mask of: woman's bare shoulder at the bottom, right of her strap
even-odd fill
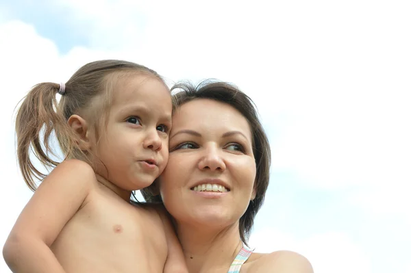
[[[253,253],[243,265],[245,272],[313,273],[310,261],[297,252],[279,250]]]

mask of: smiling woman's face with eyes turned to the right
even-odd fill
[[[255,197],[256,161],[244,116],[210,99],[185,103],[173,115],[169,148],[160,193],[177,223],[238,221]]]

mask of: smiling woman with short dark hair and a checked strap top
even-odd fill
[[[157,181],[160,195],[143,195],[173,216],[189,271],[313,272],[295,252],[247,248],[271,159],[251,99],[223,82],[172,89],[182,92],[174,96],[169,164]]]

